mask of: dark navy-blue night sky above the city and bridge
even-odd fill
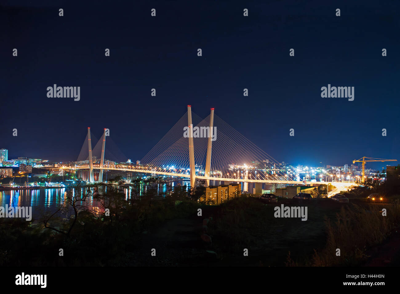
[[[399,1],[40,2],[0,6],[9,158],[76,160],[90,126],[136,161],[191,104],[279,162],[400,159]],[[80,101],[48,98],[53,84],[80,86]],[[354,86],[354,101],[321,98],[328,84]]]

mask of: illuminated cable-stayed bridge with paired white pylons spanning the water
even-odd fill
[[[118,147],[109,138],[106,142],[106,138],[107,129],[104,129],[103,136],[92,150],[92,142],[97,139],[91,136],[88,128],[88,135],[78,156],[82,164],[76,165],[75,169],[89,169],[90,182],[94,182],[95,169],[99,170],[98,182],[102,182],[103,170],[189,178],[191,187],[196,186],[196,180],[204,180],[207,186],[210,180],[285,184],[305,182],[296,181],[282,164],[215,115],[214,108],[202,119],[188,105],[188,111],[140,160],[140,164],[126,162],[126,157]],[[109,152],[109,149],[114,152]],[[96,163],[99,157],[100,162]]]

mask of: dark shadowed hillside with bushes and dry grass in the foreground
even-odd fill
[[[263,204],[238,196],[210,206],[197,201],[201,189],[188,194],[185,186],[165,195],[152,189],[140,195],[134,188],[130,198],[112,185],[102,187],[104,192],[97,188],[66,195],[60,210],[36,225],[2,219],[0,266],[355,266],[365,264],[369,249],[390,239],[400,224],[398,196],[383,185],[347,192],[349,204],[327,198],[301,204],[308,206],[306,222],[274,218],[275,206],[299,205],[291,199]],[[378,190],[389,191],[390,201],[365,201],[366,194]],[[100,210],[86,206],[89,198]],[[202,240],[202,221],[209,217],[210,240]]]

